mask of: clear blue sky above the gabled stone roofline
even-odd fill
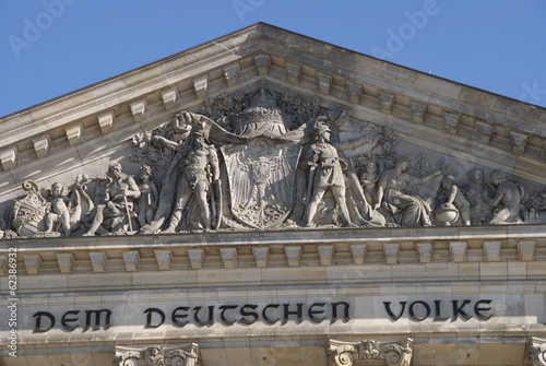
[[[544,0],[1,0],[0,116],[257,22],[546,107]]]

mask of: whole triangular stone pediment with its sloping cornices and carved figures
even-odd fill
[[[2,228],[544,224],[544,122],[543,108],[256,24],[2,118]]]

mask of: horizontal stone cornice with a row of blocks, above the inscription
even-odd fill
[[[509,276],[510,265],[523,265],[534,279],[546,275],[541,271],[546,259],[542,226],[451,227],[441,234],[435,227],[250,233],[251,243],[245,233],[163,234],[152,240],[142,235],[109,236],[107,241],[82,237],[71,238],[70,245],[61,238],[12,239],[0,249],[0,273],[8,273],[9,248],[16,247],[24,263],[20,271],[27,274],[378,264],[396,271],[403,264],[468,263],[497,269],[498,279]],[[325,239],[332,236],[334,243]],[[526,279],[526,270],[518,279]],[[474,280],[480,279],[476,273]]]

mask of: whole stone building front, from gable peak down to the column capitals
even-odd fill
[[[7,116],[0,364],[546,365],[545,123],[263,23]]]

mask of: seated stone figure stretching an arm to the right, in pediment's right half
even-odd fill
[[[424,185],[442,173],[436,172],[416,178],[406,172],[408,164],[406,158],[401,158],[394,168],[381,175],[375,208],[379,209],[384,203],[396,219],[396,224],[402,227],[430,226],[430,206],[420,197],[410,193],[408,189],[415,185]]]

